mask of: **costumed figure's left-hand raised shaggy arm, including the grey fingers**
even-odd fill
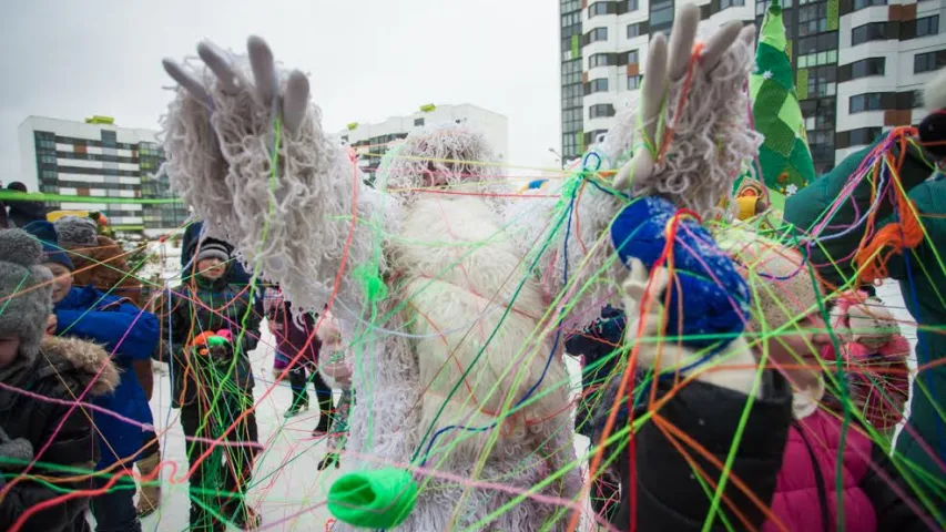
[[[281,286],[294,311],[321,310],[336,289],[348,296],[357,285],[345,275],[335,287],[339,268],[350,274],[375,246],[374,226],[359,225],[353,237],[345,216],[369,218],[380,202],[322,127],[305,74],[283,69],[258,37],[245,54],[208,41],[197,54],[164,60],[179,83],[163,124],[171,185],[208,235]],[[343,245],[347,254],[337,253]]]

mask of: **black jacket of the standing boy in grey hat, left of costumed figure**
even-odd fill
[[[224,390],[234,389],[233,386],[244,392],[253,389],[248,352],[260,341],[260,323],[263,317],[258,311],[260,306],[251,303],[250,288],[234,286],[227,279],[225,276],[211,280],[195,275],[172,290],[170,310],[166,301],[157,309],[159,315],[167,316],[170,311],[170,318],[165,317],[162,321],[171,329],[165,332],[171,338],[171,344],[165,348],[170,351],[172,364],[174,408],[191,405],[199,392],[212,392],[221,385]],[[226,360],[200,355],[190,346],[195,336],[221,329],[230,330],[233,338],[233,349]],[[167,336],[162,339],[166,341]]]

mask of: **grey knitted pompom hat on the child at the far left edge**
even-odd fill
[[[0,337],[18,337],[29,362],[39,354],[52,313],[52,273],[42,262],[35,238],[21,229],[0,231]]]

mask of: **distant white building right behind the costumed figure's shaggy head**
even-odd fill
[[[359,124],[353,122],[338,133],[338,136],[350,145],[358,155],[358,166],[365,174],[365,180],[374,182],[375,173],[382,157],[388,149],[411,131],[425,125],[444,123],[468,123],[482,132],[492,146],[497,161],[508,157],[509,126],[506,116],[470,104],[461,105],[421,105],[420,110],[406,116],[394,116],[384,122]]]

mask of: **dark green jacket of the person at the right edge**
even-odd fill
[[[850,155],[833,171],[789,197],[785,222],[803,232],[817,225],[822,213],[841,195],[848,176],[856,172],[872,147]],[[894,150],[898,153],[898,149]],[[911,146],[904,160],[901,182],[920,215],[927,237],[908,253],[894,255],[887,264],[889,276],[899,283],[907,309],[918,325],[916,358],[920,367],[928,367],[930,362],[946,357],[946,267],[940,263],[946,258],[946,180],[943,175],[930,180],[933,168],[925,161],[932,160]],[[838,287],[856,286],[853,283],[855,267],[850,257],[857,249],[865,227],[861,224],[843,236],[833,238],[833,235],[848,231],[856,222],[857,213],[864,217],[869,196],[871,184],[864,180],[851,194],[854,201],[844,202],[828,221],[827,228],[808,247],[818,274]],[[877,213],[877,228],[894,222],[894,216],[892,203],[884,201]],[[901,463],[908,472],[915,473],[917,480],[926,481],[925,485],[935,485],[927,494],[943,498],[939,500],[946,500],[946,483],[942,480],[946,478],[946,471],[917,443],[915,437],[926,442],[938,460],[946,462],[946,420],[937,412],[937,408],[943,410],[944,398],[946,365],[920,371],[913,387],[908,427],[897,440],[898,457],[904,459]]]

